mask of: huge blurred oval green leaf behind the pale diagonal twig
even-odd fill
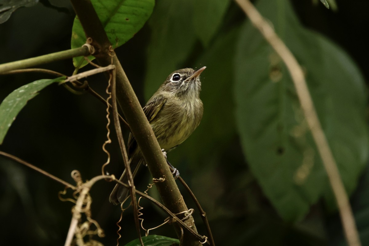
[[[318,117],[351,193],[368,160],[366,94],[355,64],[326,38],[301,27],[287,0],[257,5],[303,66]],[[235,57],[236,121],[244,153],[279,214],[297,221],[324,195],[334,205],[320,156],[290,75],[250,23]]]

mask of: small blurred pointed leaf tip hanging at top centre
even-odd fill
[[[229,0],[193,0],[193,26],[204,46],[208,46],[220,27],[229,3]]]

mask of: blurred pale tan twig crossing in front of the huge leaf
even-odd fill
[[[311,134],[313,135],[315,144],[317,145],[318,152],[323,161],[325,170],[327,171],[328,179],[338,204],[338,209],[341,215],[341,221],[348,245],[361,245],[348,195],[345,191],[341,176],[339,175],[339,170],[328,145],[327,138],[324,135],[318,119],[317,112],[315,111],[313,100],[311,99],[308,87],[306,85],[303,70],[291,51],[277,36],[268,22],[263,19],[261,14],[256,10],[252,3],[249,0],[235,1],[242,8],[242,10],[244,10],[252,24],[259,29],[266,41],[269,42],[272,48],[286,64],[296,88],[297,96],[299,97],[304,116],[310,128]]]

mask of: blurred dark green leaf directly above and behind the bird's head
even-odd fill
[[[148,22],[152,32],[145,74],[148,100],[173,71],[184,68],[196,41],[192,27],[192,4],[187,0],[162,0]],[[188,66],[188,65],[186,65]]]

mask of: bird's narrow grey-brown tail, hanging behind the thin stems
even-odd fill
[[[132,173],[133,178],[136,176],[139,168],[142,166],[142,158],[138,155],[131,157],[128,166],[130,166],[131,170],[134,170]],[[123,171],[122,176],[119,179],[121,182],[128,184],[128,176],[126,170]],[[122,186],[121,184],[116,184],[113,191],[111,191],[109,201],[114,205],[121,204],[125,198],[128,197],[130,190]]]

